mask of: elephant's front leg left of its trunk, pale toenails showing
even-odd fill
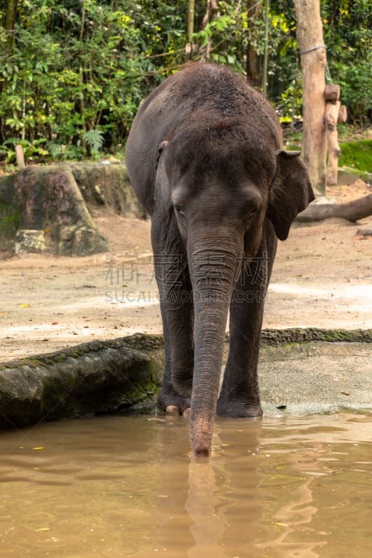
[[[184,245],[154,239],[155,275],[163,319],[165,369],[158,407],[183,414],[191,405],[193,385],[193,300]],[[170,239],[169,235],[167,241]]]

